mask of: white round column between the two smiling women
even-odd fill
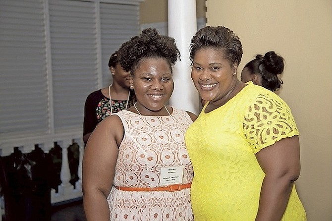
[[[168,0],[168,36],[181,53],[173,70],[174,91],[169,104],[177,109],[199,113],[199,97],[191,80],[190,40],[197,31],[196,0]]]

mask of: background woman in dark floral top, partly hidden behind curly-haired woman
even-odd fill
[[[133,106],[135,95],[129,89],[129,72],[118,63],[117,52],[109,60],[113,83],[89,94],[84,105],[83,141],[86,144],[92,131],[105,117]]]

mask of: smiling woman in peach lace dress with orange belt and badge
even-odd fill
[[[87,220],[193,221],[193,168],[184,134],[197,116],[166,106],[174,89],[172,66],[180,56],[175,41],[145,29],[123,43],[118,55],[130,70],[137,102],[104,119],[87,143],[82,177]]]

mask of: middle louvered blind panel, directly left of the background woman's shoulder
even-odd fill
[[[97,87],[95,3],[50,1],[55,131],[82,125],[85,96]]]

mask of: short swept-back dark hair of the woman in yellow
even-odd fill
[[[196,32],[190,43],[189,58],[191,62],[194,60],[196,52],[205,48],[223,50],[224,58],[230,60],[231,64],[241,62],[243,50],[240,38],[229,28],[206,26]]]

